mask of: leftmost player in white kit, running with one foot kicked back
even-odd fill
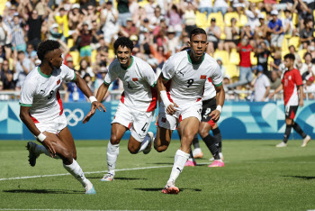
[[[83,170],[76,162],[76,146],[67,128],[67,119],[63,113],[62,101],[58,92],[62,81],[76,82],[92,106],[103,110],[103,104],[97,102],[85,80],[63,65],[58,41],[42,41],[37,50],[41,60],[39,67],[32,69],[24,80],[20,98],[20,118],[31,133],[35,142],[28,142],[29,161],[35,166],[41,153],[55,159],[61,159],[64,168],[85,188],[85,194],[96,194],[90,180],[85,178]]]

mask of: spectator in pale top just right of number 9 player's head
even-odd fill
[[[205,30],[205,32],[207,32],[209,41],[207,53],[213,55],[214,50],[218,48],[221,34],[220,27],[216,25],[215,18],[211,18],[211,25]]]

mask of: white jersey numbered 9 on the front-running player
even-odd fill
[[[217,61],[205,53],[202,62],[193,63],[189,50],[175,53],[166,60],[162,74],[166,80],[171,79],[171,82],[166,84],[167,96],[177,105],[201,100],[207,78],[211,78],[216,87],[222,84],[222,75]]]

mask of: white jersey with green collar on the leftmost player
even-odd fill
[[[62,64],[51,75],[45,75],[40,67],[32,69],[21,89],[20,105],[30,106],[33,122],[44,123],[63,114],[63,105],[58,91],[62,81],[74,80],[75,71]]]

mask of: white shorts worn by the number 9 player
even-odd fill
[[[175,115],[168,115],[164,104],[160,104],[158,111],[158,126],[172,131],[176,130],[177,124],[188,117],[196,117],[199,122],[202,120],[202,101],[193,104],[178,105]]]

